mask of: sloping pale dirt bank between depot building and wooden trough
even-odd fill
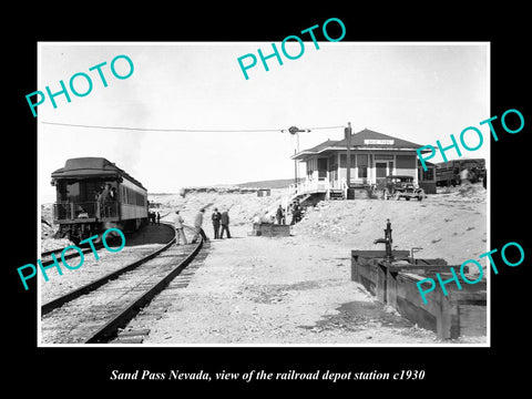
[[[485,191],[480,184],[431,195],[422,202],[323,202],[308,209],[293,234],[323,237],[352,249],[383,249],[374,241],[385,237],[388,218],[393,249],[421,247],[417,257],[441,257],[449,264],[461,264],[478,259],[489,249]]]

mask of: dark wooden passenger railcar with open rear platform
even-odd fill
[[[146,188],[103,157],[68,160],[52,173],[52,185],[57,237],[79,243],[110,227],[133,231],[147,222]]]

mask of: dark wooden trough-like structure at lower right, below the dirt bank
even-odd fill
[[[436,274],[440,273],[446,280],[452,277],[450,267],[458,273],[460,265],[447,265],[441,258],[411,263],[408,250],[395,250],[395,258],[403,260],[389,264],[383,260],[385,255],[385,250],[352,250],[351,280],[364,285],[377,300],[393,307],[419,327],[436,331],[439,339],[487,334],[485,279],[472,285],[461,282],[461,290],[456,283],[449,283],[444,296]],[[427,304],[417,287],[424,278],[437,282],[434,290],[427,295]]]

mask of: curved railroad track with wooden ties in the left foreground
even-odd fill
[[[194,233],[192,227],[185,229],[187,236]],[[203,246],[202,241],[180,246],[174,243],[175,237],[142,259],[42,305],[41,341],[101,344],[113,339]]]

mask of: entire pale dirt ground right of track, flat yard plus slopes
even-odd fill
[[[188,286],[175,290],[167,311],[150,321],[145,344],[442,344],[434,332],[413,326],[350,282],[350,252],[383,249],[374,241],[383,237],[389,218],[395,249],[421,247],[416,256],[441,257],[449,264],[478,259],[488,250],[481,185],[442,190],[423,202],[321,202],[307,209],[290,237],[249,236],[253,218],[275,208],[283,194],[152,196],[162,204],[163,221],[180,209],[191,223],[201,207],[209,206],[204,223],[209,237],[212,209],[228,209],[234,238],[211,243]],[[483,344],[485,337],[451,341],[457,342]]]

